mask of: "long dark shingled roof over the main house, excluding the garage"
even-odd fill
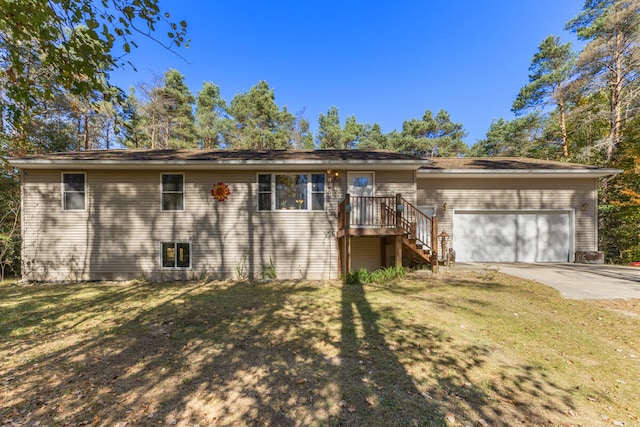
[[[362,150],[86,150],[23,156],[15,160],[48,161],[420,161],[420,159],[392,151]],[[426,163],[426,161],[425,161]]]

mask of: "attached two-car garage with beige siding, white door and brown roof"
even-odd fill
[[[598,179],[621,171],[518,157],[431,160],[416,174],[416,200],[433,208],[457,261],[599,256]]]

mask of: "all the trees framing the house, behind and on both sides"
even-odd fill
[[[265,81],[229,102],[204,82],[193,94],[177,70],[124,92],[109,84],[136,37],[166,28],[166,47],[186,44],[157,0],[0,0],[0,138],[3,158],[92,148],[388,149],[420,157],[527,156],[623,169],[603,181],[601,240],[607,258],[640,260],[640,0],[586,0],[566,29],[542,40],[529,80],[472,147],[464,126],[441,110],[382,132],[377,123],[279,107]],[[159,41],[159,43],[164,43]],[[16,254],[16,177],[0,183],[0,256]],[[13,201],[13,202],[12,202]],[[18,224],[19,226],[19,224]],[[18,227],[19,229],[19,227]],[[4,254],[4,255],[3,255]],[[15,256],[14,256],[15,258]],[[2,267],[16,266],[8,261]]]

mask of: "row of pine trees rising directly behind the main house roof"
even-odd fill
[[[19,147],[26,153],[99,148],[229,149],[390,149],[421,157],[467,154],[466,135],[446,111],[427,110],[406,120],[401,131],[384,134],[380,125],[351,115],[344,123],[337,107],[318,118],[310,131],[304,111],[279,107],[274,89],[260,81],[230,102],[220,87],[204,82],[195,94],[185,76],[170,69],[152,82],[129,89],[120,104],[83,102],[60,93],[30,117]],[[24,125],[23,125],[24,128]]]

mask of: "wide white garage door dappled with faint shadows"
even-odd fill
[[[457,211],[453,248],[462,262],[567,262],[569,212]]]

